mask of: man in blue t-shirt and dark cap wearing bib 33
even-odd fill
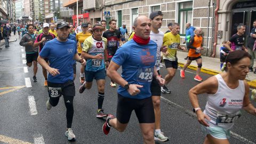
[[[63,95],[67,108],[67,130],[65,132],[68,140],[74,141],[75,134],[71,129],[74,108],[73,99],[75,96],[75,84],[73,81],[73,59],[85,65],[85,60],[81,59],[76,51],[76,42],[67,39],[69,26],[62,22],[57,25],[58,37],[44,45],[44,49],[39,53],[38,63],[48,72],[48,92],[49,99],[46,102],[47,110],[58,105],[61,95]],[[50,66],[44,60],[49,59]]]

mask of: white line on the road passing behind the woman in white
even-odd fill
[[[186,114],[188,114],[188,115],[190,115],[190,116],[193,116],[193,117],[196,117],[196,114],[195,114],[193,111],[187,110],[186,108],[184,108],[184,107],[178,105],[177,103],[172,102],[172,101],[170,101],[170,100],[168,100],[168,99],[166,99],[166,98],[164,98],[164,97],[162,97],[162,96],[161,96],[161,99],[164,100],[166,103],[169,103],[170,105],[172,105],[172,106],[174,106],[174,107],[177,107],[177,108],[179,108],[179,109],[185,111]],[[232,132],[232,131],[230,131],[230,134],[231,134],[232,137],[234,137],[235,139],[238,139],[238,140],[240,140],[240,141],[242,141],[242,142],[244,142],[244,143],[256,144],[256,143],[254,143],[254,142],[252,142],[252,141],[250,141],[250,140],[248,140],[248,139],[242,137],[241,135],[239,135],[239,134],[237,134],[237,133],[234,133],[234,132]]]

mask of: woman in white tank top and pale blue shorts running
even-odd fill
[[[249,85],[244,81],[249,72],[251,56],[245,51],[230,52],[226,73],[210,77],[189,91],[198,122],[206,135],[204,143],[229,143],[230,129],[241,116],[240,109],[256,116],[249,99]],[[207,93],[205,110],[199,108],[197,95]]]

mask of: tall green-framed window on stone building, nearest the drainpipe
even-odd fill
[[[179,3],[179,16],[180,35],[186,35],[186,23],[192,22],[193,2]]]

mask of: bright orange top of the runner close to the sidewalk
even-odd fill
[[[189,43],[191,43],[192,46],[194,46],[194,47],[201,47],[202,42],[203,42],[203,37],[202,36],[196,36],[196,35],[191,37],[190,40],[189,40]],[[201,53],[197,53],[195,49],[189,49],[188,57],[197,58],[199,56],[201,56]]]

